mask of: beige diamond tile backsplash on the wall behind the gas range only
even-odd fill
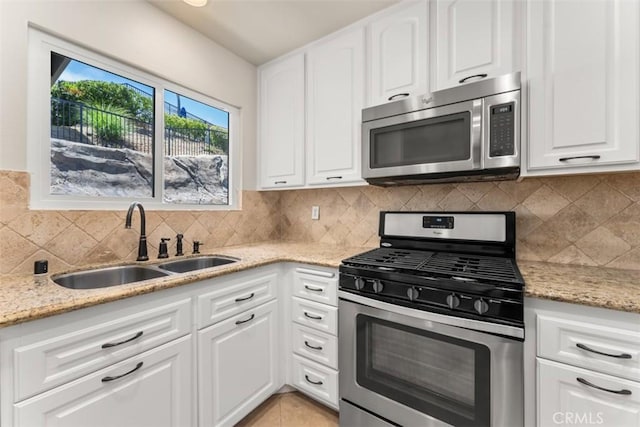
[[[519,259],[640,270],[640,173],[296,190],[280,204],[283,240],[366,246],[381,210],[514,210]]]

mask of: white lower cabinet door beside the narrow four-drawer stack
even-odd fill
[[[231,426],[275,392],[277,301],[198,332],[201,426]]]

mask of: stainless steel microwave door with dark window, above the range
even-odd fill
[[[482,99],[362,124],[362,176],[381,178],[482,168]]]

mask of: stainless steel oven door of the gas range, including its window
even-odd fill
[[[401,426],[523,425],[521,340],[340,294],[341,419],[355,406]]]

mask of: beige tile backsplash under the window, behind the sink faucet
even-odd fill
[[[119,211],[31,211],[29,175],[0,171],[0,274],[30,273],[33,262],[48,259],[52,272],[87,264],[133,261],[140,217],[124,228],[127,203]],[[184,252],[194,240],[205,248],[280,238],[280,195],[243,192],[242,211],[146,211],[149,257],[161,237],[184,234]],[[170,245],[170,255],[175,245]]]

